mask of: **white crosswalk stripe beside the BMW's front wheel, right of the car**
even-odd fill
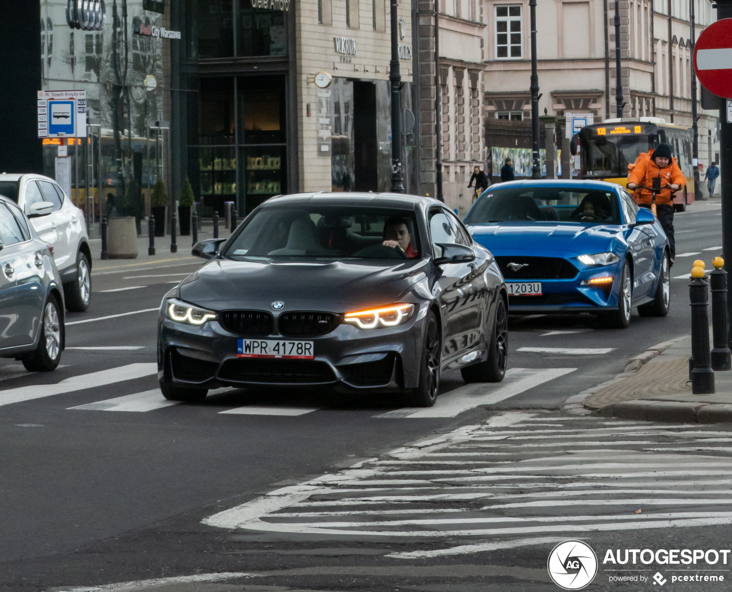
[[[510,368],[502,383],[474,383],[441,394],[433,407],[403,408],[380,413],[374,417],[386,419],[419,419],[426,417],[455,417],[478,405],[493,405],[509,397],[533,389],[534,386],[559,378],[576,368]]]

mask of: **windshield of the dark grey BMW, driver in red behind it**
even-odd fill
[[[387,239],[392,246],[382,244]],[[405,259],[418,254],[414,211],[318,204],[264,207],[223,253],[246,259]]]

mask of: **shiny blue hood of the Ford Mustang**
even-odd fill
[[[501,224],[468,225],[473,238],[494,255],[523,250],[569,252],[577,255],[613,250],[613,239],[619,233],[615,226],[583,226],[576,224]]]

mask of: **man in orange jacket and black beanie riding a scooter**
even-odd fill
[[[654,196],[650,188],[653,187],[654,178],[661,181],[661,191],[657,192],[655,198],[656,215],[668,236],[670,263],[673,265],[673,258],[676,257],[676,240],[673,236],[673,194],[681,187],[686,187],[686,178],[676,164],[676,159],[671,157],[671,147],[668,144],[659,144],[654,151],[649,152],[647,158],[638,158],[635,167],[628,175],[627,188],[631,191],[640,188],[637,201],[642,208],[652,209]]]

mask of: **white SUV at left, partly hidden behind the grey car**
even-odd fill
[[[38,236],[53,245],[64,283],[66,308],[83,312],[91,296],[91,250],[83,211],[53,179],[36,174],[0,174],[0,195],[18,203]]]

